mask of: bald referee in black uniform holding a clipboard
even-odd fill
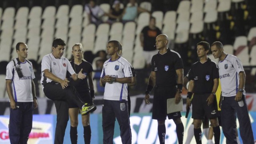
[[[165,120],[173,119],[176,124],[176,132],[179,144],[183,143],[184,126],[181,121],[180,112],[167,114],[167,99],[175,98],[176,104],[181,100],[183,85],[183,63],[180,55],[167,48],[168,37],[160,34],[156,37],[156,49],[158,54],[151,60],[151,74],[148,78],[148,86],[145,95],[146,104],[149,102],[149,93],[155,86],[152,119],[158,122],[158,137],[160,144],[164,144],[166,128]],[[176,79],[176,75],[178,79]],[[178,82],[178,84],[177,84]],[[176,87],[177,86],[177,87]]]

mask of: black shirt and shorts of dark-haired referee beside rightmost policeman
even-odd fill
[[[212,93],[213,80],[219,78],[218,68],[215,62],[207,59],[203,64],[196,62],[192,65],[189,80],[194,80],[194,96],[192,99],[192,118],[202,120],[204,116],[209,119],[218,117],[216,97],[214,102],[208,106],[206,102]]]

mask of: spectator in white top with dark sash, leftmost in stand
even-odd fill
[[[90,0],[89,4],[85,5],[85,11],[88,15],[89,24],[98,26],[102,23],[101,17],[104,15],[104,11],[96,5],[94,0]]]

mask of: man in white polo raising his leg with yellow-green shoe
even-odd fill
[[[52,53],[42,59],[41,84],[47,98],[54,100],[57,112],[57,124],[54,144],[63,144],[65,130],[68,122],[68,102],[72,102],[82,109],[81,114],[86,115],[96,110],[96,106],[82,102],[78,92],[73,86],[68,86],[67,72],[73,80],[84,79],[82,69],[76,74],[67,58],[62,57],[66,46],[64,40],[57,38],[52,42]]]

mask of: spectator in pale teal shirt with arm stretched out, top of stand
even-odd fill
[[[122,14],[122,21],[124,23],[134,21],[139,12],[149,12],[149,11],[144,8],[140,8],[136,3],[136,0],[130,0],[130,2],[127,4]]]

